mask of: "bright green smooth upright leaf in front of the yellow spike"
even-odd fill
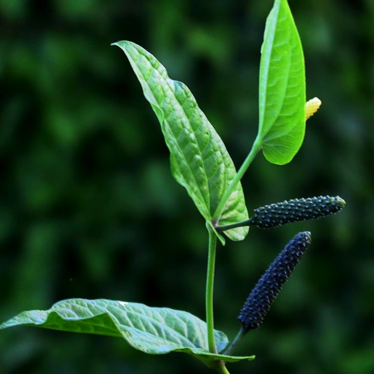
[[[305,134],[305,65],[287,0],[275,0],[261,47],[258,140],[265,158],[289,163]]]

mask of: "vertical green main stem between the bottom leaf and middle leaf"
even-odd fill
[[[214,287],[214,267],[215,251],[217,246],[217,236],[210,226],[206,225],[209,233],[208,244],[208,266],[206,270],[206,288],[205,288],[205,311],[206,311],[206,329],[208,337],[209,352],[217,353],[214,342],[214,317],[213,317],[213,287]]]

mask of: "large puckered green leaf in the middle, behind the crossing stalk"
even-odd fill
[[[130,41],[114,43],[128,57],[143,93],[161,124],[171,154],[174,178],[187,189],[197,209],[208,221],[236,175],[234,164],[221,140],[187,86],[169,78],[163,65],[141,46]],[[220,224],[248,217],[240,184],[231,193]],[[214,223],[214,222],[213,222]],[[248,229],[240,227],[225,234],[242,240]]]

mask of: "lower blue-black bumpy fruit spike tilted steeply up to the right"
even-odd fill
[[[299,232],[262,275],[245,301],[238,317],[245,332],[257,329],[262,324],[271,304],[310,243],[310,232]]]

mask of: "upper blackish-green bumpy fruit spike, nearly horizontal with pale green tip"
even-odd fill
[[[342,210],[346,202],[340,197],[318,196],[295,198],[254,209],[255,215],[249,219],[250,226],[271,228],[286,223],[317,219]]]

